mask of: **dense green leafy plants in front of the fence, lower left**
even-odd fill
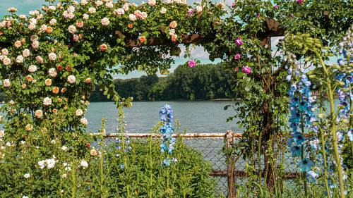
[[[92,135],[94,142],[83,147],[60,141],[53,126],[47,127],[36,137],[23,137],[18,144],[1,142],[1,197],[214,196],[210,163],[182,138],[174,145],[177,163],[164,166],[160,140],[131,140],[130,151],[117,149],[117,144],[107,144],[104,119],[100,134]],[[155,126],[152,132],[159,128]],[[11,140],[8,136],[5,134],[5,141]],[[118,138],[126,141],[125,135]],[[47,159],[51,162],[41,164]]]

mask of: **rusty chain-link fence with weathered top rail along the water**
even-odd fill
[[[117,137],[118,134],[107,134],[107,143],[115,142],[114,138]],[[150,137],[150,134],[131,134],[129,133],[128,136],[130,138],[138,138],[138,139],[145,139]],[[229,185],[244,185],[246,182],[246,163],[241,158],[241,156],[231,156],[234,160],[233,166],[227,166],[227,159],[225,154],[222,152],[224,147],[232,147],[229,144],[229,140],[232,141],[232,144],[237,144],[239,140],[241,140],[242,135],[241,133],[233,133],[232,130],[229,130],[227,133],[186,133],[181,135],[183,137],[184,143],[196,149],[196,151],[201,152],[203,155],[203,159],[209,161],[212,165],[212,175],[216,180],[216,192],[217,197],[222,197],[221,195],[227,197],[229,193]],[[160,135],[152,135],[154,138],[159,138]],[[284,141],[284,140],[280,140]],[[263,156],[261,156],[261,171],[263,171],[263,167],[265,164],[263,163]],[[286,151],[283,151],[280,156],[277,156],[277,163],[284,164],[284,173],[287,179],[293,179],[296,177],[297,173],[297,166],[293,165],[292,157]],[[256,171],[258,171],[257,164],[254,166]],[[231,175],[234,175],[232,181],[229,180]],[[289,182],[290,183],[290,182]]]

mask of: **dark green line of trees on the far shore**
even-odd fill
[[[116,79],[114,85],[121,97],[133,97],[138,101],[236,97],[232,91],[235,84],[234,74],[223,70],[222,67],[222,63],[199,65],[194,68],[181,65],[167,77],[143,75],[140,78]],[[90,100],[109,101],[99,89],[92,93]]]

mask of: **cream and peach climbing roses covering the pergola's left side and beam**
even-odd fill
[[[79,130],[87,124],[83,111],[94,85],[107,85],[114,73],[131,70],[167,73],[172,63],[167,55],[175,54],[178,44],[201,44],[210,51],[210,44],[224,45],[222,35],[227,47],[210,54],[232,61],[240,51],[237,39],[246,33],[222,19],[227,15],[223,4],[193,8],[186,1],[137,6],[83,0],[43,6],[42,11],[30,11],[30,16],[17,16],[16,8],[8,11],[11,15],[0,29],[1,80],[10,101],[3,111],[8,112],[8,128],[27,120],[17,125],[23,135],[53,114],[66,116],[61,121],[65,130]],[[265,18],[265,30],[256,35],[263,46],[271,36],[283,35],[277,25]],[[114,87],[101,88],[119,101]]]

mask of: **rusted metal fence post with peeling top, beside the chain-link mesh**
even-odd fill
[[[226,147],[227,149],[232,149],[235,136],[232,130],[228,130],[226,134]],[[232,154],[227,154],[227,184],[228,184],[228,197],[237,197],[237,187],[235,186],[235,176],[234,176],[234,156]]]

